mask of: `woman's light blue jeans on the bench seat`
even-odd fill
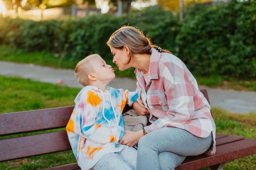
[[[212,144],[186,130],[165,127],[143,136],[138,143],[136,170],[174,170],[186,156],[206,152]]]

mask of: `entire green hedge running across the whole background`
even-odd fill
[[[42,22],[0,18],[0,43],[78,60],[91,53],[112,60],[107,39],[121,26],[131,25],[172,51],[193,73],[255,79],[256,2],[232,0],[188,9],[182,24],[159,8],[123,17],[97,15]]]

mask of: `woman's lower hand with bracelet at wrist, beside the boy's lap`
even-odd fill
[[[119,140],[119,143],[133,147],[134,145],[138,144],[142,136],[143,136],[142,130],[138,132],[125,131],[125,135],[122,137],[122,139]]]

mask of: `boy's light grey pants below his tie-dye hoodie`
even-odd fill
[[[118,153],[107,153],[95,164],[93,170],[135,170],[137,150],[125,146]]]

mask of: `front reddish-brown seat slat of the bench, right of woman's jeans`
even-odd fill
[[[256,154],[256,140],[244,139],[216,147],[214,155],[188,156],[175,170],[197,170]]]

